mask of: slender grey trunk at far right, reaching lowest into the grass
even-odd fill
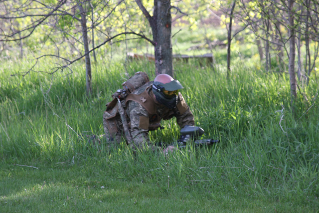
[[[296,82],[296,73],[295,73],[295,26],[294,26],[294,12],[293,12],[293,6],[294,6],[294,0],[289,0],[289,77],[290,77],[290,93],[291,93],[291,103],[293,104],[294,101],[297,98],[297,82]],[[293,106],[293,105],[292,105]]]

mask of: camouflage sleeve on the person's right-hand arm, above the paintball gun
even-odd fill
[[[178,94],[177,99],[177,112],[175,113],[176,122],[180,128],[183,128],[184,126],[194,126],[194,115],[190,111],[189,106],[185,102],[185,99],[181,95],[181,93]]]

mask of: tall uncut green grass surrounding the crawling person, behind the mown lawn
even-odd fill
[[[213,70],[196,61],[175,63],[175,77],[184,86],[182,94],[195,125],[205,130],[206,138],[218,138],[220,143],[198,149],[189,146],[165,156],[147,150],[134,154],[124,143],[110,148],[102,141],[93,146],[80,137],[103,134],[102,114],[110,94],[136,71],[154,78],[152,63],[110,67],[100,63],[93,74],[91,98],[85,96],[80,65],[67,76],[30,72],[24,78],[9,77],[23,66],[2,69],[0,75],[4,164],[72,164],[76,159],[116,179],[161,183],[163,195],[176,187],[215,201],[228,199],[218,196],[221,193],[318,208],[317,82],[311,81],[303,91],[308,102],[298,96],[292,113],[285,74],[264,73],[238,62],[227,79],[221,66]],[[163,126],[164,130],[151,133],[152,141],[170,143],[179,137],[174,120]]]

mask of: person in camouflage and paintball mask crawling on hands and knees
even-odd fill
[[[120,143],[122,135],[125,135],[127,143],[135,150],[146,147],[161,150],[151,143],[148,134],[161,128],[162,119],[175,117],[180,128],[194,126],[194,116],[179,92],[183,86],[171,76],[159,74],[154,81],[149,81],[145,72],[137,72],[122,85],[124,89],[112,95],[114,99],[103,113],[108,143]],[[125,112],[122,118],[121,109]],[[128,131],[125,132],[125,129]],[[161,151],[167,153],[173,149],[173,146],[168,146]]]

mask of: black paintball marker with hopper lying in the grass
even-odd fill
[[[195,127],[195,126],[183,127],[182,129],[180,129],[180,138],[177,141],[177,146],[182,148],[182,147],[186,147],[187,143],[190,143],[190,144],[193,144],[195,147],[199,147],[199,146],[212,145],[219,142],[219,140],[213,140],[213,139],[197,140],[197,138],[202,136],[204,132],[205,131],[200,127]]]

